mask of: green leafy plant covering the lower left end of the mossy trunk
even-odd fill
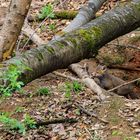
[[[22,81],[18,81],[24,70],[31,70],[20,61],[15,61],[14,64],[10,64],[1,79],[3,85],[0,85],[0,94],[4,96],[10,96],[13,91],[20,90],[24,85]]]

